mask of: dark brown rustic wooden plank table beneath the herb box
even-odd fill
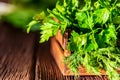
[[[106,76],[63,76],[50,54],[50,42],[0,24],[0,80],[107,80]]]

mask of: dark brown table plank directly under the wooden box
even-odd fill
[[[63,76],[50,53],[50,41],[38,44],[35,80],[108,80],[106,76]]]

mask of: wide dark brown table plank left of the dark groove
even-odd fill
[[[34,34],[0,25],[0,80],[34,80]]]

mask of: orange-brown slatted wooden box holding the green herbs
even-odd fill
[[[64,58],[70,56],[71,52],[66,49],[68,41],[68,32],[64,34],[64,37],[58,31],[55,37],[50,39],[51,41],[51,54],[54,57],[56,64],[58,65],[61,73],[65,76],[74,75],[71,73],[66,64],[64,64]],[[105,75],[103,70],[100,70],[101,75]],[[94,75],[93,73],[88,73],[83,66],[79,67],[79,75]]]

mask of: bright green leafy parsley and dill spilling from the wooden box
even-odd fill
[[[55,36],[58,30],[62,34],[71,30],[67,47],[72,54],[65,58],[71,72],[76,73],[83,65],[88,72],[100,75],[99,70],[103,69],[110,80],[120,79],[116,70],[120,67],[120,47],[117,44],[120,39],[119,0],[58,1],[48,12],[48,16],[42,12],[40,16],[44,17],[34,20],[42,23],[40,42]]]

